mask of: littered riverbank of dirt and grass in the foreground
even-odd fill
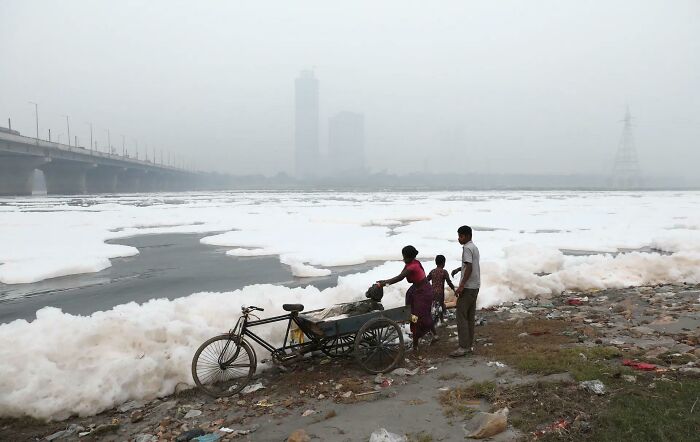
[[[474,356],[446,356],[456,345],[448,323],[438,344],[379,383],[351,360],[319,356],[258,373],[265,388],[248,395],[215,400],[183,385],[92,417],[5,419],[0,438],[144,442],[200,429],[222,440],[279,441],[301,429],[315,440],[355,441],[386,428],[415,441],[461,440],[475,413],[503,407],[508,430],[497,441],[692,440],[700,432],[699,285],[565,292],[480,316]],[[592,380],[602,390],[581,384]]]

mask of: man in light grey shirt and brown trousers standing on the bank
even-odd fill
[[[472,242],[472,228],[462,226],[457,229],[457,239],[462,244],[462,266],[452,271],[454,277],[462,272],[459,286],[455,290],[457,296],[457,334],[459,347],[450,353],[452,357],[464,356],[474,351],[474,319],[476,316],[476,297],[481,287],[479,271],[479,249]]]

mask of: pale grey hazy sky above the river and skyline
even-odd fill
[[[700,164],[698,0],[0,0],[0,42],[0,125],[202,169],[291,172],[307,68],[374,171],[607,173],[626,104],[644,173]]]

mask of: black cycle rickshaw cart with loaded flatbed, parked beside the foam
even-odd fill
[[[264,309],[242,307],[233,329],[210,338],[197,349],[192,359],[192,377],[199,388],[212,396],[224,397],[240,392],[253,378],[258,363],[248,340],[269,351],[276,364],[286,365],[321,351],[333,358],[354,356],[368,372],[386,373],[403,361],[404,336],[399,324],[408,322],[411,312],[408,306],[383,310],[381,304],[374,302],[374,305],[382,309],[320,320],[314,318],[314,314],[321,310],[303,312],[301,304],[284,304],[282,308],[287,314],[264,319],[253,314]],[[252,330],[284,321],[287,322],[287,331],[281,347],[275,347]],[[303,337],[293,342],[290,339],[292,334]]]

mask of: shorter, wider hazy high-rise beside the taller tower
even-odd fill
[[[358,176],[365,173],[365,117],[339,112],[328,122],[328,157],[333,173]]]

